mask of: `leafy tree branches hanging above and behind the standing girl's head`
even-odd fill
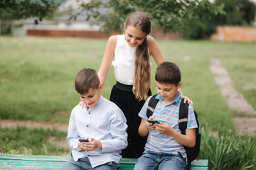
[[[90,3],[78,0],[78,3],[81,11],[87,13],[86,20],[95,18],[105,33],[122,32],[125,19],[134,11],[148,13],[152,22],[165,32],[179,32],[194,16],[210,18],[221,13],[223,8],[208,0],[92,0]],[[70,19],[75,20],[79,14],[73,14]]]

